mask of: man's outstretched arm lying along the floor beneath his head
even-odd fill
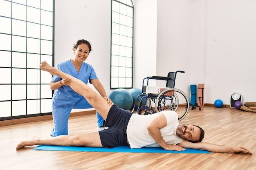
[[[208,150],[210,152],[220,152],[220,153],[238,153],[238,152],[244,152],[252,154],[247,148],[245,147],[238,147],[238,146],[222,146],[222,145],[216,145],[216,144],[209,144],[209,143],[192,143],[189,141],[181,141],[178,146],[182,146],[184,148],[192,148],[192,149],[200,149],[200,150]]]

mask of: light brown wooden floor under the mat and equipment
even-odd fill
[[[196,108],[180,121],[186,123],[205,130],[204,142],[245,146],[253,155],[66,152],[34,147],[16,151],[22,140],[50,137],[52,120],[44,120],[0,127],[0,170],[256,170],[256,113]],[[96,130],[96,115],[70,117],[70,135]]]

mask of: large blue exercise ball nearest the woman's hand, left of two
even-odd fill
[[[124,88],[117,88],[112,91],[109,98],[114,104],[125,110],[129,110],[133,104],[132,95]]]

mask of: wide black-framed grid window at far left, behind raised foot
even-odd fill
[[[0,0],[0,120],[52,113],[54,0]]]

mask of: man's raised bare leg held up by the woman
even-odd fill
[[[72,80],[70,87],[76,92],[85,97],[85,99],[92,105],[95,110],[103,117],[104,120],[107,119],[108,112],[111,108],[106,102],[106,100],[101,97],[98,93],[96,93],[92,88],[90,88],[87,84],[82,82],[71,75],[63,73],[62,71],[54,68],[47,64],[46,61],[43,61],[40,64],[40,68],[43,71],[49,72],[51,75],[58,75],[62,79],[70,78]]]

